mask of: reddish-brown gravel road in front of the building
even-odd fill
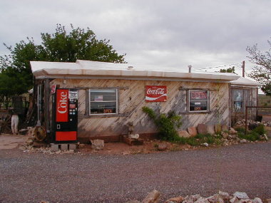
[[[126,202],[218,190],[271,197],[271,142],[138,155],[0,150],[0,202]]]

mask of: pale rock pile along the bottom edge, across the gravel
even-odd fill
[[[157,190],[148,193],[147,197],[141,203],[158,203],[161,194]],[[271,199],[267,199],[269,203]],[[186,197],[173,197],[165,201],[165,203],[262,203],[262,199],[255,197],[250,199],[245,192],[235,192],[232,195],[227,192],[219,191],[210,197],[201,197],[200,194],[188,195]],[[138,200],[131,200],[126,203],[140,203]]]

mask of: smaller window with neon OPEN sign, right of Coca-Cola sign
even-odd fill
[[[189,90],[189,111],[208,111],[208,90]]]

